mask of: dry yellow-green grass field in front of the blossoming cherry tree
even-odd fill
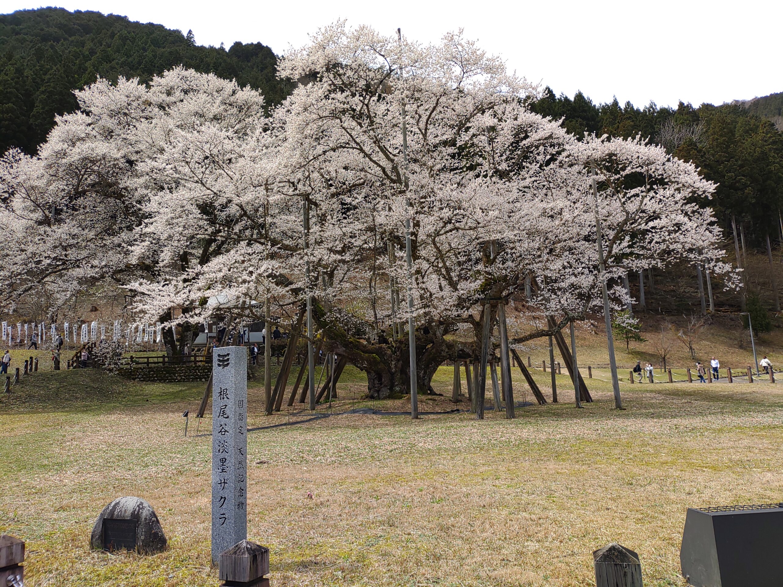
[[[422,411],[454,409],[451,376],[441,369],[446,397],[422,398]],[[549,374],[535,376],[547,394]],[[781,500],[783,384],[626,383],[619,412],[608,373],[594,377],[586,409],[565,403],[561,376],[563,403],[482,422],[340,415],[409,408],[360,400],[365,384],[349,370],[333,416],[298,423],[309,419],[298,404],[264,416],[251,384],[248,535],[269,546],[272,585],[593,585],[591,551],[615,540],[640,554],[645,585],[684,585],[688,506]],[[521,380],[515,389],[523,399]],[[201,390],[46,370],[0,398],[0,532],[27,540],[26,585],[218,585],[211,421],[182,435]],[[290,425],[269,427],[280,423]],[[121,495],[157,510],[165,553],[88,549],[98,513]]]

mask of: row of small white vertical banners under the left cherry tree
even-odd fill
[[[16,326],[16,328],[14,328]],[[110,326],[111,327],[111,326]],[[16,330],[16,333],[14,333]],[[114,320],[111,337],[112,340],[124,340],[125,344],[132,342],[161,342],[161,322],[156,324],[140,324],[135,322],[129,325],[123,325],[121,320]],[[62,333],[62,335],[60,334]],[[100,336],[99,336],[100,333]],[[124,335],[124,336],[123,336]],[[62,327],[56,324],[49,324],[49,337],[56,342],[57,337],[63,337],[65,342],[86,343],[92,340],[106,339],[106,325],[99,324],[97,320],[85,322],[78,326],[64,322]],[[2,322],[2,340],[5,344],[41,344],[46,340],[45,322],[16,322],[16,325],[10,322]]]

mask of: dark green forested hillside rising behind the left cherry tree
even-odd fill
[[[0,153],[28,153],[43,142],[56,113],[70,112],[71,93],[96,76],[143,81],[176,65],[236,78],[277,103],[288,88],[276,79],[277,58],[266,45],[196,45],[193,34],[125,16],[45,8],[0,15]]]

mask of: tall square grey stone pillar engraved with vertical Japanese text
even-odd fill
[[[247,539],[247,348],[212,355],[212,564]]]

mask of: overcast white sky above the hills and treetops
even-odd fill
[[[0,13],[40,2],[0,0]],[[417,41],[464,28],[529,81],[644,106],[698,105],[783,92],[783,0],[596,2],[167,2],[78,0],[63,8],[193,30],[199,45],[261,41],[278,54],[338,18]]]

